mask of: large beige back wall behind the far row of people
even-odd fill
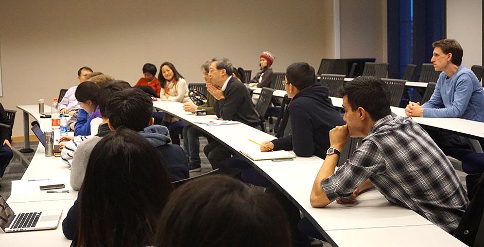
[[[7,109],[50,102],[84,65],[131,84],[144,63],[164,61],[201,82],[199,66],[214,56],[254,74],[263,50],[275,55],[275,71],[296,61],[317,69],[334,57],[333,2],[303,3],[0,0],[1,101]],[[22,133],[19,112],[14,136]]]

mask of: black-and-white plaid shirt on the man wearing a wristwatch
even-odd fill
[[[387,200],[447,232],[457,228],[468,204],[450,161],[408,117],[377,120],[351,158],[324,179],[321,188],[333,201],[349,196],[368,178]]]

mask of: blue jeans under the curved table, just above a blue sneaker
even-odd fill
[[[200,140],[198,137],[205,136],[203,131],[187,125],[183,128],[183,150],[188,165],[200,166]]]

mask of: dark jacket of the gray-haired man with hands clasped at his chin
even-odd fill
[[[248,126],[259,128],[261,119],[255,111],[247,87],[242,82],[235,77],[230,78],[223,95],[225,98],[216,100],[214,104],[217,117],[221,117],[223,120],[239,121]]]

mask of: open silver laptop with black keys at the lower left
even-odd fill
[[[15,214],[0,196],[0,228],[6,233],[55,229],[62,209]]]

